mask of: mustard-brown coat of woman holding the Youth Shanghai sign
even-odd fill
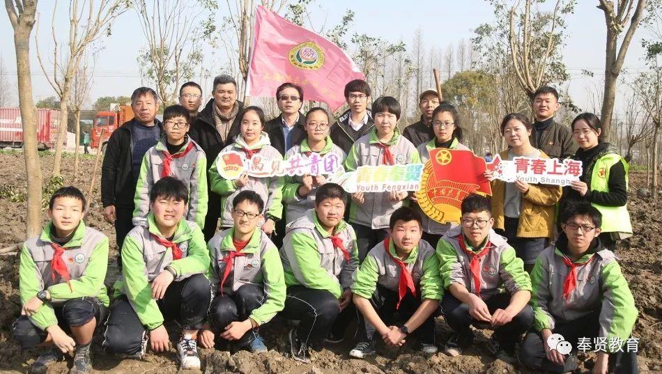
[[[508,150],[500,154],[502,159],[508,158]],[[549,158],[543,151],[540,157]],[[494,228],[504,228],[504,199],[506,182],[493,180],[492,186],[492,217]],[[552,237],[554,231],[555,205],[561,198],[561,186],[529,185],[526,194],[522,194],[522,214],[517,228],[518,237]]]

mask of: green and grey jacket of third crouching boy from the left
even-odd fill
[[[218,288],[225,272],[224,258],[230,252],[236,251],[232,243],[233,234],[234,228],[229,228],[214,235],[208,243],[211,265],[207,271],[207,278],[211,281],[212,292],[216,295],[220,294]],[[259,228],[253,231],[242,253],[245,256],[233,258],[232,271],[223,285],[223,293],[234,295],[245,284],[262,286],[266,300],[249,315],[249,318],[262,325],[269,322],[285,306],[283,265],[280,262],[278,249],[269,236]]]

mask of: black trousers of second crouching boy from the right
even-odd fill
[[[494,295],[484,300],[484,302],[490,313],[494,313],[497,309],[506,309],[510,304],[510,297],[510,294],[502,293]],[[463,304],[452,293],[446,293],[442,297],[441,311],[448,325],[461,336],[460,341],[467,341],[466,336],[472,334],[470,325],[480,325],[481,323],[469,314],[468,304]],[[520,340],[522,334],[532,327],[533,317],[533,309],[527,305],[509,323],[497,327],[494,330],[494,337],[501,347],[509,353],[514,353],[515,343]]]

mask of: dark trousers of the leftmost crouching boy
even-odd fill
[[[80,297],[70,299],[64,304],[54,307],[58,325],[66,332],[71,326],[82,326],[96,318],[97,326],[101,325],[108,313],[108,309],[96,297]],[[13,326],[14,338],[21,348],[32,348],[43,343],[48,336],[44,330],[32,324],[26,315],[21,315]]]

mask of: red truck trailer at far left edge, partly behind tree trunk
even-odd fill
[[[37,109],[37,142],[40,150],[55,147],[59,124],[59,110]],[[0,108],[0,147],[20,148],[22,146],[23,123],[21,109]]]

